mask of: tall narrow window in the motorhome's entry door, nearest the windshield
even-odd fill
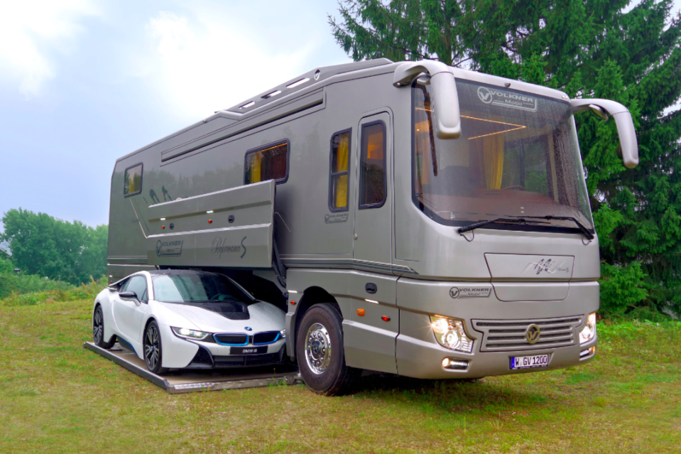
[[[361,127],[359,209],[378,208],[386,202],[386,125],[383,121]]]

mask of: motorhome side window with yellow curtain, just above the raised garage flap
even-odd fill
[[[244,184],[288,179],[288,140],[246,151]]]

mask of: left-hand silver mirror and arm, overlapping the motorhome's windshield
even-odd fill
[[[422,73],[430,75],[432,98],[430,107],[433,115],[433,128],[438,139],[459,139],[461,136],[461,113],[457,82],[450,67],[435,60],[421,60],[403,63],[397,67],[393,76],[395,87],[409,87],[411,82]]]

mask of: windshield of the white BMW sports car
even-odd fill
[[[191,303],[254,300],[229,278],[212,273],[161,274],[151,276],[153,296],[162,303]]]

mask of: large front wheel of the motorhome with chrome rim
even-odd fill
[[[298,369],[307,387],[317,394],[347,393],[361,369],[345,364],[343,320],[332,304],[317,304],[303,315],[295,341]]]

